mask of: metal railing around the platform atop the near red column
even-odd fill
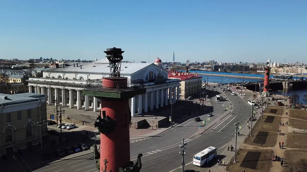
[[[144,87],[144,80],[130,80],[127,83],[123,82],[102,82],[102,79],[87,80],[85,90],[93,91],[127,91]]]

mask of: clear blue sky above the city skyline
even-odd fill
[[[4,1],[0,59],[307,62],[307,1]]]

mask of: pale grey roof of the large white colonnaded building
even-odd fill
[[[107,63],[65,63],[66,66],[64,68],[59,65],[58,68],[56,67],[50,67],[47,69],[43,69],[42,71],[50,71],[50,72],[89,72],[89,73],[99,73],[104,75],[109,75],[110,68],[109,64]],[[77,67],[78,64],[78,67]],[[120,73],[122,75],[131,75],[132,73],[135,73],[136,71],[139,71],[152,63],[122,63],[121,64],[121,71]],[[80,65],[82,65],[80,67]],[[154,65],[154,64],[152,64]]]

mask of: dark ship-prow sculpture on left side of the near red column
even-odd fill
[[[105,114],[105,111],[102,111],[102,117],[98,115],[94,127],[98,128],[98,131],[102,134],[110,134],[115,130],[116,120]]]

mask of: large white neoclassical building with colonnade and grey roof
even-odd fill
[[[160,60],[160,59],[159,59]],[[161,60],[160,60],[161,61]],[[161,61],[162,63],[162,61]],[[168,71],[160,63],[122,63],[121,76],[131,80],[144,80],[146,93],[129,100],[131,116],[167,106],[170,101],[179,101],[180,80],[167,79]],[[86,80],[108,77],[108,60],[94,63],[66,63],[43,69],[42,78],[30,78],[29,92],[47,95],[47,104],[55,105],[55,100],[63,107],[93,110],[101,109],[96,97],[81,95]],[[159,75],[161,73],[161,75]],[[163,76],[163,77],[158,77]],[[157,82],[165,80],[164,82]],[[160,83],[160,84],[158,84]]]

